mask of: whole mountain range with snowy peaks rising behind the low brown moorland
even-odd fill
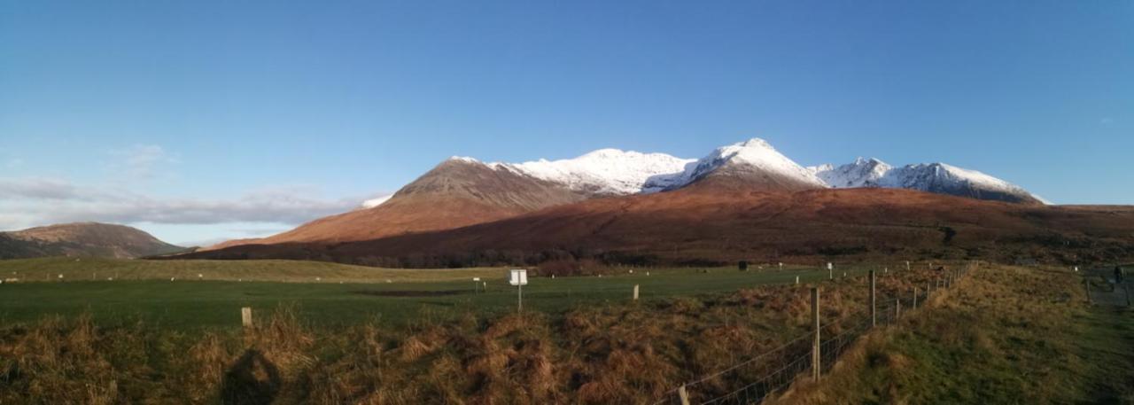
[[[358,210],[239,244],[367,241],[472,226],[593,197],[685,187],[702,193],[892,187],[981,200],[1042,201],[1007,182],[943,163],[894,168],[877,159],[858,159],[839,167],[804,168],[768,142],[752,138],[718,147],[696,160],[617,149],[523,163],[452,157],[393,195],[363,202]]]

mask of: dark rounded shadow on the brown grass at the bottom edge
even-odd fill
[[[244,352],[225,373],[220,397],[223,404],[271,404],[280,391],[279,368],[256,349]]]

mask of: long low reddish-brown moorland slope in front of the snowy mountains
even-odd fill
[[[777,194],[705,186],[589,200],[443,231],[342,244],[242,247],[192,256],[406,267],[560,258],[670,263],[981,258],[1074,263],[1134,258],[1134,209],[1031,206],[905,189]]]

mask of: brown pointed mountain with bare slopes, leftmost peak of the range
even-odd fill
[[[381,205],[316,219],[262,239],[229,241],[210,250],[247,244],[367,241],[414,231],[452,229],[584,197],[562,186],[508,169],[449,159],[399,189]]]

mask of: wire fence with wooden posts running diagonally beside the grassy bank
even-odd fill
[[[871,313],[865,313],[821,324],[818,364],[820,374],[829,373],[854,341],[874,326],[896,323],[904,317],[904,312],[925,305],[939,289],[954,286],[968,268],[941,273],[940,280],[931,280],[925,290],[915,289],[915,293],[905,296],[877,296],[873,320]],[[815,331],[812,330],[773,349],[666,391],[653,404],[759,404],[769,395],[790,386],[799,376],[814,370],[814,346]]]

